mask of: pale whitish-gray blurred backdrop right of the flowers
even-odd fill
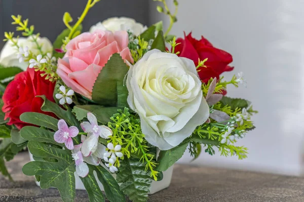
[[[167,2],[173,9],[173,1]],[[183,31],[192,31],[197,38],[204,35],[214,46],[232,54],[235,70],[223,75],[230,79],[242,71],[248,84],[247,88],[230,86],[227,95],[249,99],[259,111],[253,116],[256,129],[238,142],[249,148],[246,160],[203,154],[193,164],[299,175],[304,148],[304,2],[178,2],[178,22],[172,33],[183,36]],[[164,20],[168,25],[168,19],[162,17],[151,13],[153,22]],[[179,162],[189,161],[187,154]]]

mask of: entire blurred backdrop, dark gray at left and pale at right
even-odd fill
[[[173,1],[167,1],[173,9]],[[192,164],[233,169],[299,175],[304,147],[303,36],[301,0],[221,1],[179,0],[178,22],[171,33],[183,31],[199,38],[204,35],[214,46],[234,57],[235,70],[242,71],[248,87],[227,89],[228,96],[252,101],[259,114],[253,116],[256,129],[238,145],[249,148],[248,159],[210,156],[202,152]],[[191,4],[189,4],[191,3]],[[51,41],[65,28],[65,11],[76,19],[86,1],[82,0],[0,0],[0,33],[14,31],[12,14],[30,19],[36,31]],[[58,7],[60,5],[60,7]],[[126,16],[150,25],[168,18],[156,11],[152,0],[111,0],[98,3],[85,19],[84,31],[113,16]],[[56,8],[56,10],[54,9]],[[104,9],[107,8],[107,9]],[[37,12],[37,11],[43,11]],[[35,11],[35,12],[32,12]],[[149,11],[149,12],[146,12]],[[0,35],[2,38],[2,35]],[[0,49],[4,42],[0,41]],[[188,164],[185,154],[179,163]]]

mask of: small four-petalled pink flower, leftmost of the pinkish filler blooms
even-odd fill
[[[74,149],[72,137],[76,137],[79,130],[75,126],[68,127],[63,119],[58,121],[58,131],[55,132],[54,139],[58,143],[64,143],[69,150]]]

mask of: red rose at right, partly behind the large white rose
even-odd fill
[[[210,78],[216,77],[219,79],[219,75],[223,72],[232,71],[234,67],[230,67],[232,63],[232,55],[229,53],[214,47],[206,38],[202,36],[201,40],[197,40],[189,33],[185,38],[178,38],[176,43],[180,43],[175,47],[175,53],[179,57],[188,58],[194,61],[198,66],[199,59],[201,61],[208,58],[205,65],[206,67],[200,67],[198,69],[199,76],[203,82],[208,82]]]

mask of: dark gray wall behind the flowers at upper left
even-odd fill
[[[148,2],[148,0],[101,0],[84,20],[83,30],[87,31],[93,24],[115,16],[126,16],[148,24]],[[28,18],[29,25],[34,25],[36,32],[54,41],[65,29],[62,22],[64,12],[69,12],[75,22],[86,4],[86,0],[0,0],[0,49],[4,45],[2,40],[4,31],[15,31],[15,25],[11,25],[11,15]]]

